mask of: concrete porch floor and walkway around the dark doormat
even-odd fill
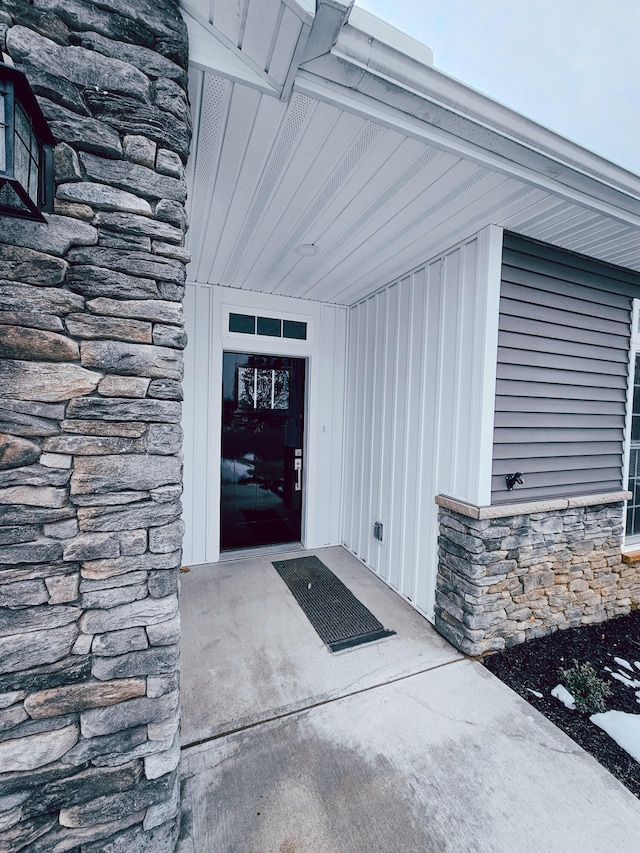
[[[311,553],[397,636],[330,654],[274,557],[183,576],[181,853],[636,849],[626,788],[346,551]]]

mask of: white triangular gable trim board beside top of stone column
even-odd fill
[[[191,10],[182,8],[181,11],[189,32],[189,65],[280,97],[279,89],[217,39],[205,24],[194,17]]]

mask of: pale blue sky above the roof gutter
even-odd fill
[[[638,0],[356,0],[440,71],[640,174]]]

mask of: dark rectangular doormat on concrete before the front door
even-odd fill
[[[381,622],[317,557],[298,557],[273,563],[307,619],[329,650],[391,637]]]

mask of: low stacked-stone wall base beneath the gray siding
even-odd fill
[[[438,631],[481,655],[628,613],[640,565],[622,560],[622,518],[621,502],[484,519],[441,507]]]

